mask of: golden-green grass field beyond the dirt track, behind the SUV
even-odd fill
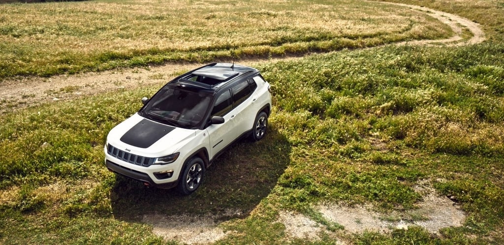
[[[84,1],[3,4],[0,13],[0,82],[452,35],[421,13],[369,2]]]

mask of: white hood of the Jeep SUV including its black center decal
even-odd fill
[[[160,124],[135,113],[110,131],[107,142],[144,156],[163,155],[176,152],[179,143],[195,135],[195,130]]]

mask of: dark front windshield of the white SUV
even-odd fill
[[[210,97],[165,86],[154,95],[140,115],[160,123],[194,129],[201,125]]]

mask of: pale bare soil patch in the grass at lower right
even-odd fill
[[[409,211],[380,213],[374,211],[372,205],[350,207],[344,204],[321,204],[317,210],[329,221],[344,226],[344,231],[350,233],[388,233],[393,229],[407,230],[416,225],[433,235],[439,235],[442,228],[463,225],[466,214],[456,203],[438,195],[434,189],[422,183],[416,187],[416,191],[426,196],[417,204],[416,209]],[[294,238],[318,239],[321,232],[330,232],[324,225],[302,214],[282,212],[278,221],[284,223],[286,233]]]

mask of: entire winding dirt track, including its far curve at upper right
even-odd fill
[[[484,33],[479,28],[479,25],[465,18],[424,7],[394,3],[384,4],[398,5],[415,11],[421,11],[422,13],[446,23],[452,27],[456,33],[455,36],[443,40],[419,40],[401,42],[398,44],[466,45],[480,43],[485,39]],[[469,30],[473,34],[471,39],[464,40],[462,38],[463,28]],[[264,62],[275,62],[276,60],[278,59],[241,59],[238,60],[237,63],[254,65]],[[116,89],[129,89],[160,83],[174,77],[175,73],[188,71],[199,66],[201,66],[201,64],[178,63],[155,66],[147,69],[133,68],[100,73],[60,75],[50,78],[27,77],[21,80],[11,79],[4,81],[0,87],[0,114],[51,101],[75,99],[80,96],[88,96]]]

